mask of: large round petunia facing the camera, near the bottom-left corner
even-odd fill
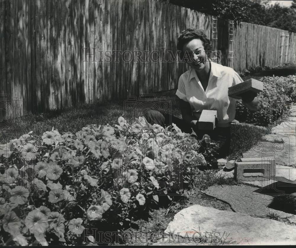
[[[28,213],[25,218],[25,225],[31,233],[45,233],[49,227],[47,216],[37,209]]]

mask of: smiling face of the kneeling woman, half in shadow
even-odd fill
[[[192,69],[201,71],[208,62],[205,48],[200,39],[193,39],[183,46],[184,58],[189,58],[188,63]]]

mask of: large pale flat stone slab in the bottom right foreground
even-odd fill
[[[226,236],[240,245],[295,245],[296,226],[247,214],[193,205],[178,212],[165,233],[196,238],[199,233]]]

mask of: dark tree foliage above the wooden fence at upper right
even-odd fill
[[[279,3],[251,0],[165,0],[172,4],[194,9],[224,19],[254,23],[296,32],[296,3],[283,7]],[[263,4],[261,4],[263,3]]]

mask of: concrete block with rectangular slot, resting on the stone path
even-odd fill
[[[266,181],[275,176],[275,162],[271,158],[257,158],[257,161],[256,158],[243,158],[243,160],[235,163],[234,178],[237,181]]]

